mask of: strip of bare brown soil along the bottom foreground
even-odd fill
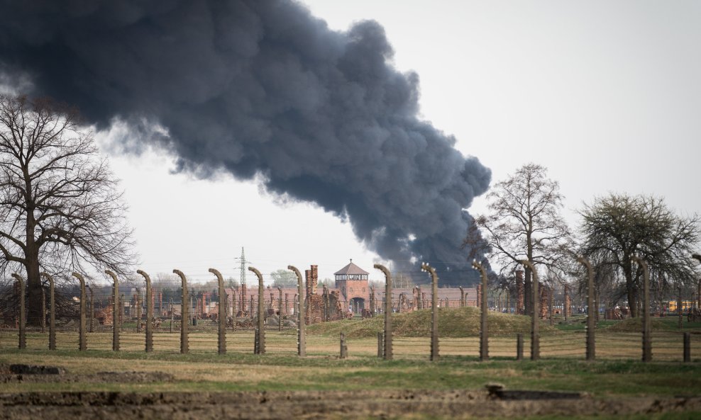
[[[514,397],[517,391],[511,391]],[[0,394],[0,419],[358,419],[410,414],[518,418],[544,414],[701,412],[701,397],[592,399],[470,391],[28,392]],[[544,399],[541,397],[545,397]]]

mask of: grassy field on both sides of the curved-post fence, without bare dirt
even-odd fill
[[[0,331],[0,363],[61,366],[72,374],[165,372],[174,380],[150,383],[9,382],[3,392],[27,391],[276,391],[276,390],[480,390],[488,382],[511,390],[589,392],[594,397],[701,395],[701,327],[685,322],[692,332],[692,363],[681,363],[682,334],[676,319],[656,319],[653,325],[653,363],[641,363],[639,324],[601,322],[597,329],[597,361],[587,363],[582,319],[553,326],[543,322],[541,361],[529,361],[528,319],[490,316],[490,361],[480,362],[479,336],[471,311],[443,312],[438,361],[429,361],[425,314],[397,317],[394,323],[394,360],[377,358],[381,319],[348,320],[316,325],[307,336],[307,358],[297,357],[294,330],[266,333],[266,354],[253,355],[253,331],[228,331],[225,355],[216,353],[216,334],[194,331],[190,352],[180,354],[178,332],[155,334],[155,351],[143,351],[144,334],[123,331],[121,351],[111,351],[111,333],[88,334],[88,351],[77,351],[75,332],[57,334],[58,350],[47,349],[48,334],[31,332],[28,348],[17,349],[16,331]],[[396,319],[395,319],[396,321]],[[525,328],[525,329],[524,329]],[[348,336],[349,358],[338,358],[338,334]],[[408,331],[408,333],[407,333]],[[418,331],[418,332],[417,332]],[[478,331],[478,330],[477,330]],[[515,361],[516,334],[524,334],[525,361]],[[432,417],[416,416],[416,419]],[[550,419],[536,417],[534,419]],[[552,417],[555,419],[556,417]],[[569,417],[568,418],[573,418]],[[576,418],[576,417],[574,417]],[[606,417],[597,417],[605,419]],[[621,417],[617,419],[637,419]],[[687,419],[668,413],[641,419]],[[588,417],[587,417],[588,419]]]

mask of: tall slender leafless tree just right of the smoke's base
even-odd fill
[[[537,164],[521,166],[515,174],[492,187],[487,194],[490,213],[479,215],[475,223],[502,273],[512,271],[522,259],[534,266],[551,268],[566,259],[563,250],[568,248],[571,239],[560,214],[562,199],[559,183],[549,179],[547,169]],[[529,313],[531,271],[528,268],[524,294],[526,313]]]

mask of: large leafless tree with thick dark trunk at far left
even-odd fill
[[[26,271],[28,322],[43,316],[40,271],[135,262],[117,183],[74,109],[0,95],[0,273]]]

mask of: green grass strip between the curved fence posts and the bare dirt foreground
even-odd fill
[[[317,339],[321,340],[317,341]],[[309,337],[310,348],[322,348],[323,337]],[[47,351],[3,349],[0,363],[60,365],[69,373],[101,371],[165,371],[175,382],[154,384],[94,384],[87,382],[9,383],[6,392],[104,391],[245,391],[245,390],[480,390],[487,382],[508,389],[586,391],[597,397],[622,395],[699,395],[701,363],[641,363],[571,358],[515,362],[492,358],[480,363],[475,356],[441,356],[383,361],[372,356],[340,360],[324,351],[307,358],[268,353],[213,352],[143,353],[111,351]]]

